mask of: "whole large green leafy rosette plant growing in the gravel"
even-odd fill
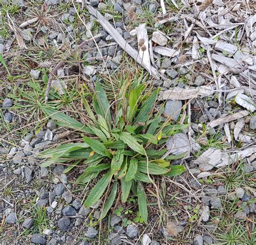
[[[83,100],[90,119],[86,125],[40,105],[45,114],[59,125],[86,135],[82,143],[65,144],[43,151],[39,158],[48,160],[41,166],[71,162],[65,169],[66,173],[79,163],[86,165],[77,183],[86,183],[98,175],[102,176],[84,202],[87,208],[103,195],[108,195],[102,213],[102,218],[105,217],[120,189],[122,202],[127,201],[130,192],[137,196],[140,216],[147,222],[145,183],[153,182],[152,175],[176,176],[185,171],[183,166],[170,165],[172,156],[161,159],[166,153],[161,146],[187,125],[162,121],[163,106],[156,105],[158,92],[147,88],[144,83],[123,83],[110,103],[98,82],[92,106]],[[110,193],[106,192],[107,189]]]

